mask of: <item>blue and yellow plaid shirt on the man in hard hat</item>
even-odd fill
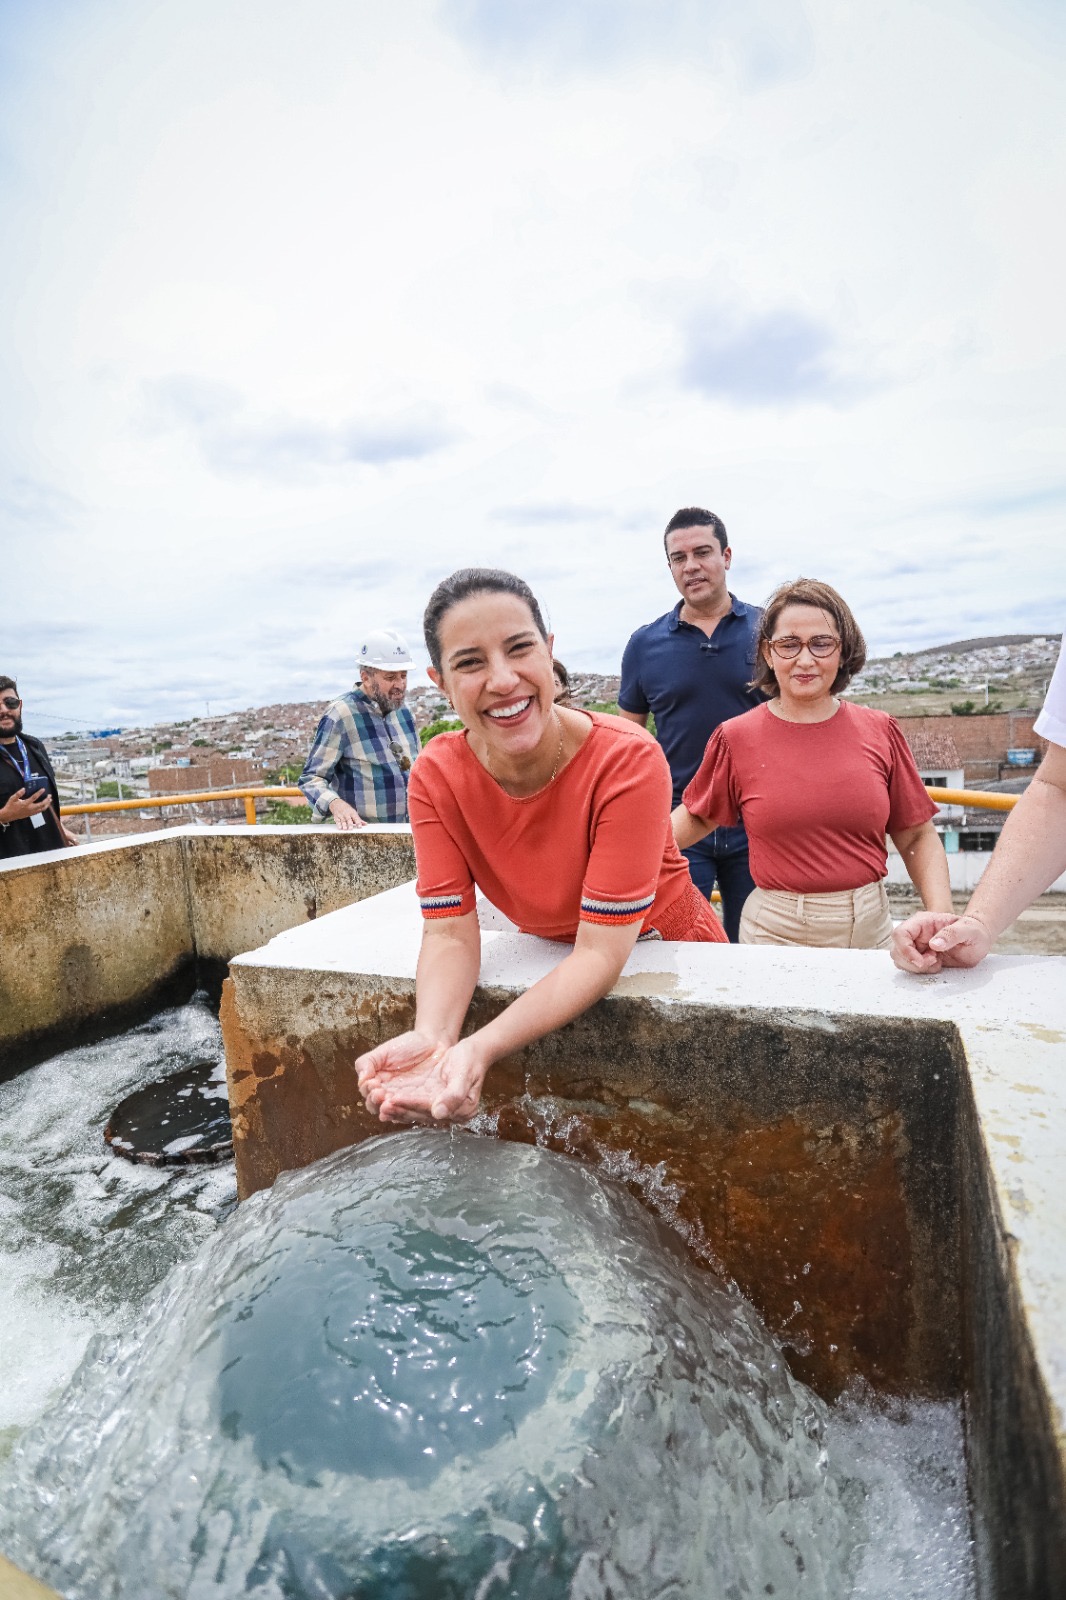
[[[407,776],[421,746],[407,706],[383,717],[362,688],[333,701],[319,723],[299,787],[315,818],[347,800],[363,822],[407,822]]]

